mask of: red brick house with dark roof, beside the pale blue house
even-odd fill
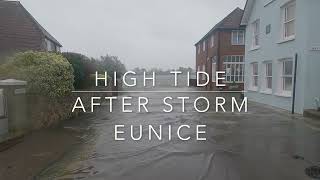
[[[240,26],[243,10],[236,8],[196,44],[196,70],[210,75],[207,89],[215,86],[216,71],[225,71],[225,90],[243,90],[245,27]],[[205,76],[201,77],[206,80]]]

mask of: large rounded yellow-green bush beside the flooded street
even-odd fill
[[[27,92],[49,98],[67,96],[73,90],[73,68],[62,56],[46,52],[23,52],[0,66],[1,79],[28,82]]]

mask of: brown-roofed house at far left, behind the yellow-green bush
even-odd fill
[[[18,1],[0,1],[0,54],[60,51],[62,45]]]

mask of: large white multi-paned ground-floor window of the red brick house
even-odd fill
[[[223,69],[226,72],[227,83],[243,82],[244,80],[244,61],[243,56],[224,56]]]

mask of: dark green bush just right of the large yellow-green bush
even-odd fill
[[[73,67],[74,88],[87,88],[88,84],[90,84],[88,83],[90,74],[94,74],[97,69],[95,61],[79,53],[66,52],[62,53],[62,55]]]

